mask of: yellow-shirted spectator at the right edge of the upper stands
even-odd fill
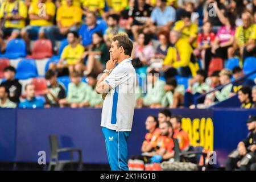
[[[256,24],[253,23],[252,15],[249,12],[242,14],[243,26],[237,27],[235,38],[235,49],[239,48],[243,60],[256,53]]]

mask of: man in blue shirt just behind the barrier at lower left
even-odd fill
[[[25,86],[26,100],[19,103],[20,108],[43,108],[44,101],[35,97],[35,85],[27,84]]]

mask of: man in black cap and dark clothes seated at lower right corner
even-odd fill
[[[246,122],[250,131],[248,137],[238,143],[237,149],[231,152],[226,161],[226,170],[256,170],[256,115],[251,115]]]

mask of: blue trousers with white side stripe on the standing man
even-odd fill
[[[128,171],[127,139],[130,131],[115,131],[102,127],[105,137],[106,151],[112,171]]]

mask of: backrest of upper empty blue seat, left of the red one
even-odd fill
[[[26,43],[23,39],[9,40],[6,46],[6,54],[18,53],[19,57],[26,56]]]

